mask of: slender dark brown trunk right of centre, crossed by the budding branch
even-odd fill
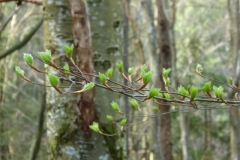
[[[171,68],[172,53],[169,32],[169,20],[165,14],[166,4],[163,0],[157,0],[158,6],[158,27],[159,27],[159,51],[160,51],[160,73],[163,68]],[[162,73],[160,74],[162,75]],[[161,78],[161,88],[164,88],[164,82]],[[170,105],[160,105],[161,113],[170,111]],[[172,160],[172,142],[171,142],[171,115],[161,116],[161,141],[165,160]]]

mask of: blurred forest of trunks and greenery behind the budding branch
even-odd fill
[[[0,160],[240,159],[238,107],[202,102],[196,109],[168,104],[160,105],[161,113],[156,113],[151,106],[158,104],[146,101],[141,103],[141,113],[129,105],[126,96],[106,89],[61,96],[49,87],[45,90],[29,84],[15,73],[15,66],[21,66],[29,79],[48,85],[43,74],[24,63],[23,53],[37,56],[49,49],[61,65],[67,61],[62,58],[63,46],[78,46],[77,36],[91,35],[92,40],[86,40],[83,48],[84,53],[93,55],[94,63],[89,56],[86,66],[93,69],[94,64],[96,72],[113,67],[115,81],[123,83],[115,67],[122,60],[125,68],[135,67],[133,79],[146,64],[155,74],[152,83],[162,90],[163,67],[172,68],[174,88],[189,84],[201,88],[207,80],[196,74],[197,64],[208,77],[226,83],[233,77],[238,85],[238,0],[86,0],[87,9],[83,0],[0,2]],[[74,30],[74,6],[85,16],[80,35]],[[78,49],[75,47],[75,54],[81,58]],[[34,62],[41,70],[54,72],[36,58]],[[233,99],[232,90],[225,91],[224,97]],[[96,99],[95,105],[89,102],[90,115],[81,105],[84,96]],[[111,114],[120,119],[111,108],[112,101],[125,113],[125,131],[108,137],[88,130],[94,120],[104,132],[119,131],[106,118]],[[79,112],[92,117],[78,118]],[[76,119],[81,126],[76,125]]]

